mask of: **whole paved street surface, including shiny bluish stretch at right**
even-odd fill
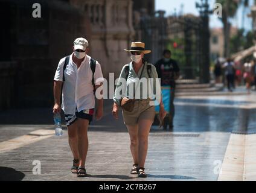
[[[255,133],[255,96],[177,98],[174,130],[153,126],[150,132],[147,179],[129,174],[129,134],[121,113],[118,121],[112,118],[111,101],[105,103],[104,118],[89,128],[89,176],[85,179],[70,172],[72,155],[66,130],[62,137],[51,134],[51,109],[0,113],[4,120],[0,125],[0,180],[218,180],[219,172],[226,171],[221,164],[223,160],[223,165],[228,163],[231,133]],[[31,134],[33,131],[36,133]],[[4,150],[7,143],[14,148],[8,150],[8,145]],[[40,175],[33,174],[34,160],[40,161]]]

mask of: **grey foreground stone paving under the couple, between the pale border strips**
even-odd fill
[[[223,159],[229,139],[228,133],[219,132],[152,132],[146,163],[149,178],[137,179],[129,174],[132,157],[128,134],[92,130],[86,162],[89,178],[77,179],[70,173],[72,155],[66,132],[60,138],[52,136],[1,153],[0,171],[13,168],[25,175],[22,180],[217,180],[214,161]],[[34,160],[40,160],[41,175],[33,175]],[[9,174],[1,180],[8,179]]]

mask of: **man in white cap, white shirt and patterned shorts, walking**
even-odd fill
[[[74,41],[73,53],[60,60],[54,77],[53,113],[62,110],[68,127],[68,141],[74,156],[71,172],[85,177],[88,151],[88,125],[95,108],[95,89],[101,86],[103,74],[100,64],[86,53],[89,43],[84,38]],[[62,89],[63,88],[63,89]],[[103,116],[103,98],[97,99],[96,119]]]

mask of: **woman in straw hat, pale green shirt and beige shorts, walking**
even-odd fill
[[[131,174],[138,174],[138,177],[147,177],[144,164],[148,149],[148,136],[150,128],[155,118],[155,106],[151,106],[152,90],[161,88],[159,80],[156,79],[156,87],[154,84],[149,84],[149,78],[158,78],[155,66],[147,63],[143,57],[151,51],[145,50],[145,45],[142,42],[133,42],[130,50],[132,62],[125,65],[118,79],[117,88],[114,95],[113,115],[118,119],[118,109],[123,109],[124,124],[129,131],[130,136],[130,151],[133,157],[133,166]],[[140,80],[146,78],[147,85],[151,85],[151,89],[147,89],[146,97],[144,86],[141,87]],[[135,86],[133,86],[135,84]],[[132,87],[132,89],[131,89]],[[120,93],[120,88],[124,92]],[[132,92],[129,92],[129,89]],[[134,91],[135,90],[135,91]],[[137,95],[139,94],[139,97]],[[135,97],[135,100],[132,98]],[[159,98],[161,98],[161,93]],[[160,119],[164,119],[166,112],[160,101]]]

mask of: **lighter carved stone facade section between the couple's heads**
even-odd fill
[[[97,59],[105,78],[115,73],[117,78],[121,68],[130,62],[124,49],[133,40],[132,0],[70,0],[71,5],[80,8],[90,19],[91,56]]]

